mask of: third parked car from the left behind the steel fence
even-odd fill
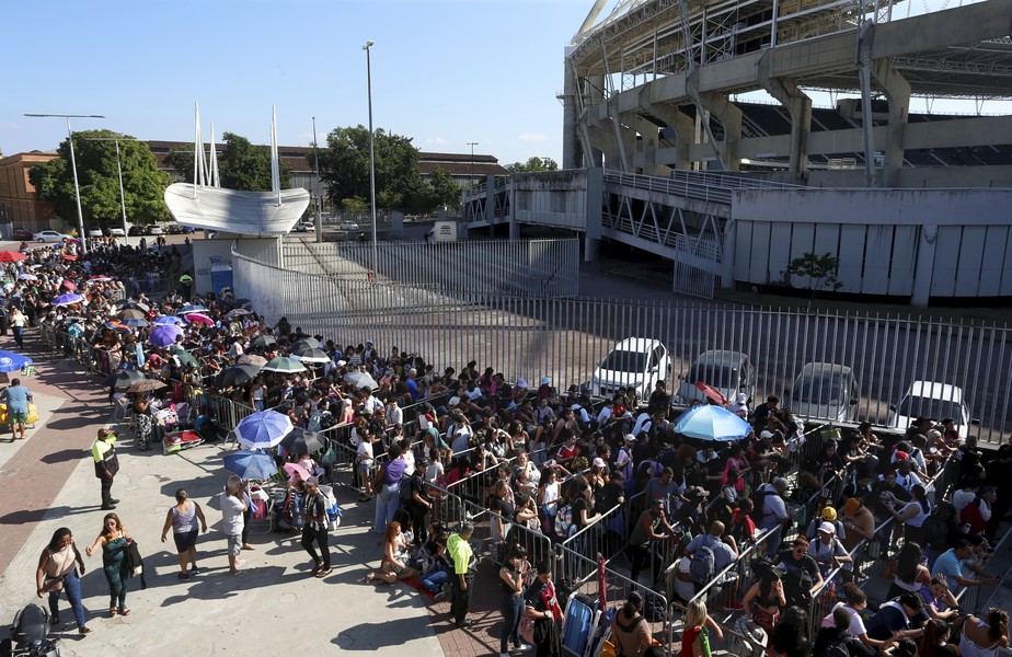
[[[858,416],[858,382],[846,365],[808,362],[791,389],[789,407],[800,418],[847,422]]]

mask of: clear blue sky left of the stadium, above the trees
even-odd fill
[[[562,160],[563,54],[591,0],[35,0],[5,2],[0,150],[50,150],[74,130],[192,141],[210,123],[284,146],[368,124],[421,150]],[[613,3],[609,3],[610,7]]]

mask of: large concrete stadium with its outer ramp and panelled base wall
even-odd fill
[[[838,257],[849,295],[1012,293],[1012,116],[981,112],[1012,95],[1012,2],[605,5],[566,49],[565,171],[490,178],[472,228],[574,230],[588,260],[624,242],[704,297],[790,285],[806,253]],[[912,111],[951,100],[978,113]]]

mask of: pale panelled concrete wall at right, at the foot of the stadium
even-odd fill
[[[739,283],[778,283],[792,258],[831,253],[843,292],[917,306],[1012,296],[1010,203],[1012,189],[741,191],[725,257]]]

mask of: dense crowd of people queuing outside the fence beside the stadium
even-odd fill
[[[970,657],[1008,645],[1003,612],[967,616],[954,596],[994,581],[986,563],[1012,507],[1012,446],[987,459],[950,418],[918,418],[906,435],[877,436],[867,423],[854,431],[806,434],[775,396],[749,408],[740,395],[727,407],[752,431],[727,445],[695,443],[675,433],[663,382],[646,400],[636,399],[633,389],[619,389],[594,401],[575,385],[556,389],[549,377],[530,385],[474,361],[440,370],[392,345],[342,345],[307,335],[286,318],[271,323],[228,295],[191,296],[188,284],[151,299],[139,274],[175,276],[173,252],[103,245],[87,256],[67,255],[36,250],[11,265],[18,272],[31,268],[35,279],[16,280],[5,301],[24,311],[27,325],[45,321],[76,338],[74,349],[83,345],[104,354],[111,373],[137,370],[165,383],[123,396],[133,410],[136,449],[150,448],[162,422],[158,413],[181,402],[189,407],[173,422],[203,418],[195,429],[214,438],[215,396],[285,413],[296,427],[332,438],[327,453],[278,454],[300,465],[288,481],[281,512],[287,514],[284,526],[301,533],[315,577],[327,576],[332,567],[329,504],[319,477],[332,477],[340,457],[331,452],[340,448],[354,453],[359,504],[375,505],[372,531],[383,537],[379,568],[367,579],[388,585],[417,579],[437,600],[451,599],[458,627],[470,623],[475,528],[468,521],[449,526],[434,511],[447,495],[490,511],[482,521],[490,522],[498,566],[503,654],[510,644],[526,648],[521,634],[527,634],[538,655],[561,655],[561,591],[552,581],[551,561],[530,565],[530,537],[561,543],[591,526],[600,531],[585,540],[599,541],[609,567],[628,573],[644,591],[631,595],[616,616],[612,635],[622,657],[647,654],[647,624],[636,619],[644,618],[649,591],[666,588],[688,609],[682,655],[708,655],[703,629],[720,627],[712,627],[703,600],[712,603],[716,597],[699,593],[715,590],[717,575],[745,553],[754,584],[724,578],[720,599],[725,609],[740,610],[739,630],[763,637],[771,654],[835,657],[831,650],[842,645],[850,657],[860,649],[931,657],[944,653],[940,646],[956,626],[952,635],[962,635],[961,646],[979,649],[963,648]],[[134,273],[129,286],[124,273]],[[53,306],[53,297],[66,289],[84,299]],[[129,293],[134,298],[125,300]],[[186,319],[177,335],[169,344],[152,344],[152,333],[175,325],[180,316]],[[262,365],[276,356],[294,356],[308,367],[234,376],[239,365]],[[363,385],[364,374],[372,383]],[[118,402],[124,390],[115,379],[108,384],[110,400]],[[107,511],[117,502],[112,497],[115,441],[112,431],[100,430],[92,452]],[[252,548],[243,530],[244,517],[256,506],[254,493],[250,482],[230,477],[221,496],[233,575],[242,573],[241,551]],[[162,540],[171,529],[185,579],[197,573],[197,530],[206,531],[206,520],[185,491],[175,502]],[[618,522],[617,508],[626,514]],[[105,518],[87,552],[102,549],[110,614],[125,615],[117,555],[130,537],[115,514]],[[892,529],[876,533],[889,519]],[[47,578],[61,578],[76,614],[80,608],[73,566],[83,570],[83,560],[68,537],[54,537],[38,568],[39,595],[50,591],[54,614]],[[894,589],[872,612],[856,584],[862,562],[883,557],[894,564]],[[669,583],[666,573],[672,575]],[[809,637],[803,616],[812,596],[826,591],[837,608],[823,619],[818,637]],[[83,619],[77,620],[85,632]],[[911,648],[915,638],[920,645]]]

